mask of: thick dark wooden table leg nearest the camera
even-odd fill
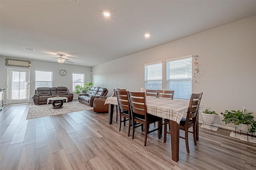
[[[180,151],[180,125],[176,121],[170,120],[171,130],[171,145],[172,145],[172,160],[179,161]]]

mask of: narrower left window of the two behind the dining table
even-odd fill
[[[162,89],[162,61],[145,64],[145,88],[150,90]]]

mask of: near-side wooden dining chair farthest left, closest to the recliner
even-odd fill
[[[128,101],[128,93],[127,91],[119,91],[116,90],[116,97],[118,102],[118,109],[119,109],[119,131],[121,130],[122,122],[124,122],[124,126],[126,121],[129,123],[128,128],[128,136],[130,136],[130,128],[131,128],[131,114],[130,114],[130,104]],[[124,120],[122,121],[122,117]],[[126,120],[127,118],[127,120]]]

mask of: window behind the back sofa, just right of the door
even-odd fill
[[[36,71],[36,88],[37,87],[52,87],[52,72]]]

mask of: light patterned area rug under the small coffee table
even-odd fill
[[[34,119],[38,117],[46,117],[52,115],[60,115],[64,113],[72,113],[78,111],[92,110],[92,107],[86,106],[78,101],[67,102],[63,104],[61,109],[52,109],[52,104],[49,105],[33,105],[28,109],[27,119]]]

